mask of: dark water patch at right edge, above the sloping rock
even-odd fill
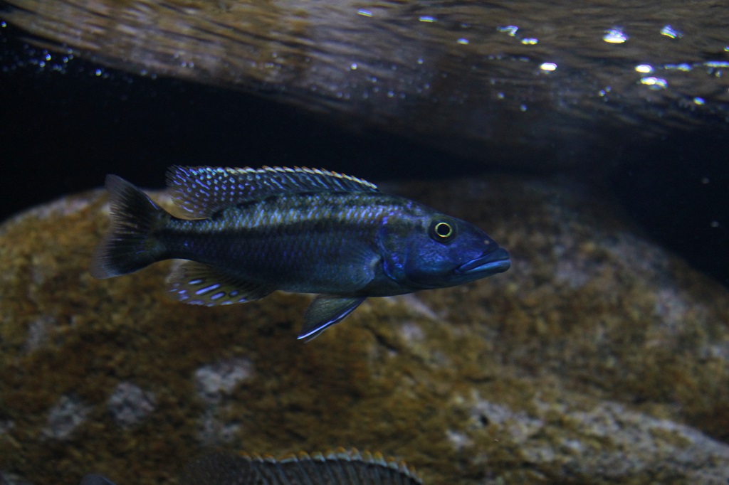
[[[667,138],[614,173],[609,185],[626,211],[658,241],[729,286],[727,133]]]

